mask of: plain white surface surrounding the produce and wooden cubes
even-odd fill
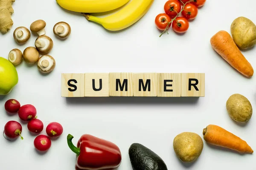
[[[236,17],[248,17],[256,22],[256,3],[252,0],[207,0],[198,17],[190,22],[186,34],[159,38],[154,25],[157,14],[163,12],[166,0],[155,0],[150,10],[136,24],[124,31],[111,33],[102,26],[88,22],[81,14],[63,10],[55,0],[16,0],[12,15],[14,25],[7,34],[0,34],[0,56],[7,58],[13,48],[23,51],[34,46],[36,35],[29,42],[18,45],[13,31],[38,19],[47,23],[47,35],[54,41],[49,55],[56,60],[55,70],[43,75],[36,65],[25,62],[17,66],[19,82],[7,96],[0,97],[0,127],[9,120],[20,121],[16,115],[8,116],[4,110],[6,100],[14,98],[21,105],[37,108],[38,119],[59,122],[64,127],[60,138],[52,141],[45,154],[38,153],[27,125],[22,123],[24,140],[9,142],[0,138],[1,170],[74,170],[76,155],[66,142],[68,133],[79,137],[88,133],[117,144],[122,151],[119,170],[132,170],[128,148],[141,143],[157,153],[169,170],[255,170],[255,154],[239,153],[212,147],[204,141],[204,149],[197,161],[183,164],[175,155],[173,139],[184,131],[198,133],[209,124],[219,125],[247,141],[256,150],[256,118],[239,125],[227,114],[226,101],[239,93],[256,107],[256,79],[247,79],[227,64],[209,43],[220,30],[230,33]],[[246,4],[246,5],[244,5]],[[246,6],[246,7],[245,7]],[[101,16],[100,16],[101,17]],[[65,21],[72,33],[67,40],[57,39],[52,28]],[[256,48],[242,51],[256,68]],[[195,98],[73,98],[61,97],[61,73],[85,72],[195,72],[206,74],[205,97]],[[41,134],[45,133],[44,131]]]

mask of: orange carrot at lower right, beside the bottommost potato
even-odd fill
[[[253,153],[252,148],[241,138],[217,125],[208,125],[203,130],[204,140],[215,146],[226,147],[240,153]]]

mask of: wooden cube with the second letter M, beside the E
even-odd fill
[[[157,96],[157,73],[134,73],[134,96]]]

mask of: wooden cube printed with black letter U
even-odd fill
[[[108,97],[109,74],[85,73],[84,76],[85,97]]]

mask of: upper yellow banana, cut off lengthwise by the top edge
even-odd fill
[[[99,13],[117,9],[129,0],[56,0],[59,6],[69,11]]]

